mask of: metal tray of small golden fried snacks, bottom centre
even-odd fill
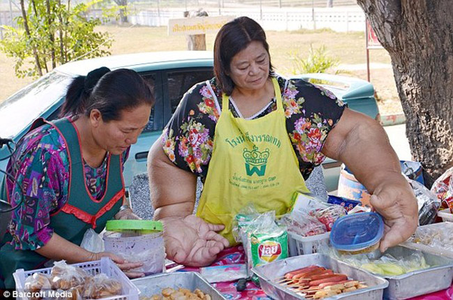
[[[201,290],[209,294],[212,300],[224,300],[225,297],[210,285],[199,273],[195,272],[176,272],[164,273],[154,276],[133,279],[132,283],[140,290],[140,297],[151,297],[154,294],[161,294],[165,287],[171,287],[175,290],[185,288],[191,290]]]

